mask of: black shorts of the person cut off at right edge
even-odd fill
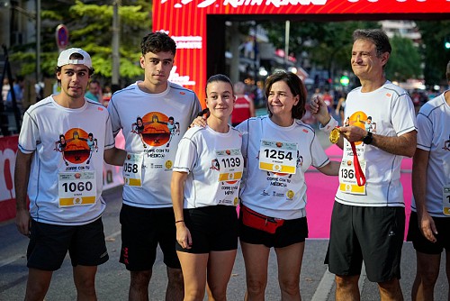
[[[411,211],[410,227],[407,241],[412,242],[414,249],[424,254],[440,254],[444,249],[450,251],[450,217],[433,217],[437,228],[437,242],[430,242],[419,230],[418,214]]]

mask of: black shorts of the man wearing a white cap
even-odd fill
[[[104,242],[102,218],[92,223],[67,226],[31,220],[27,267],[57,270],[67,251],[72,266],[98,266],[109,259]]]

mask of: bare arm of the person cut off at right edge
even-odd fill
[[[436,242],[437,229],[427,210],[427,170],[429,151],[417,149],[412,161],[412,193],[416,201],[420,232],[430,242]]]

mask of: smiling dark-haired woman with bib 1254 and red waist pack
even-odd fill
[[[246,300],[264,300],[269,253],[278,262],[282,300],[299,300],[305,239],[306,184],[310,166],[337,176],[339,162],[330,161],[314,130],[302,123],[307,92],[292,72],[266,79],[268,113],[237,126],[243,133],[246,162],[240,189],[239,241],[246,265]],[[195,125],[203,125],[202,118]],[[273,158],[276,158],[274,162]]]

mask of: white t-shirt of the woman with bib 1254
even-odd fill
[[[242,132],[242,154],[246,160],[245,180],[240,189],[241,202],[260,214],[292,220],[306,216],[304,173],[310,166],[321,168],[329,158],[311,126],[295,120],[282,127],[266,116],[247,119],[237,127]],[[296,144],[294,174],[259,169],[261,141]]]

